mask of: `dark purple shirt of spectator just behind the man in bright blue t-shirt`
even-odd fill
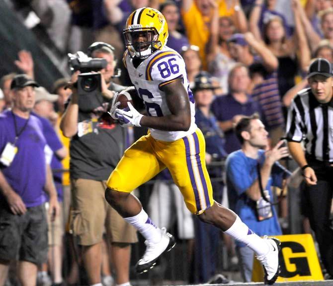
[[[249,97],[246,103],[241,103],[231,94],[217,97],[212,103],[211,110],[218,121],[231,120],[237,114],[250,116],[257,112],[261,115],[260,107],[252,98]],[[224,149],[228,154],[241,149],[241,143],[233,129],[226,131],[224,135],[226,139]]]

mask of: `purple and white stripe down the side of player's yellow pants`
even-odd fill
[[[209,194],[200,159],[199,138],[193,134],[183,138],[186,151],[186,164],[194,191],[197,213],[210,207]]]

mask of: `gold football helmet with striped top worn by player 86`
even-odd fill
[[[123,32],[130,56],[144,59],[167,43],[167,21],[163,14],[153,8],[136,9],[129,15]]]

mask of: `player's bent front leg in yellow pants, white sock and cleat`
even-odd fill
[[[157,258],[175,244],[172,235],[156,227],[139,199],[130,193],[165,169],[155,154],[154,141],[150,135],[143,136],[125,151],[105,191],[108,203],[146,238],[146,252],[136,265],[138,273],[154,267]]]

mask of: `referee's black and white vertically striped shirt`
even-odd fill
[[[333,98],[321,104],[310,88],[300,91],[289,108],[286,138],[304,140],[307,154],[333,162]]]

